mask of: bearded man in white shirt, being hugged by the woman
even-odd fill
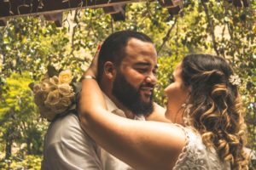
[[[154,106],[157,59],[153,42],[143,33],[119,31],[110,35],[99,52],[97,81],[108,111],[137,120],[160,120]],[[84,77],[91,78],[91,77]],[[131,169],[99,147],[69,114],[51,123],[44,140],[42,169]]]

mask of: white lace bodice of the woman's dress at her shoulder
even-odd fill
[[[217,152],[214,149],[208,150],[202,143],[200,133],[189,127],[181,128],[187,136],[187,144],[173,170],[230,170],[230,163],[220,161]]]

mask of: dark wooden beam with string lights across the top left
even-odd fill
[[[22,15],[57,13],[76,8],[103,8],[136,2],[140,2],[140,0],[0,0],[0,19]]]

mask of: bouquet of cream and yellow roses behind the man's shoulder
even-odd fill
[[[47,74],[41,82],[29,86],[34,94],[34,102],[39,113],[49,122],[58,116],[64,116],[70,111],[76,111],[76,98],[81,89],[81,83],[76,82],[72,71],[56,71],[54,66],[48,66]]]

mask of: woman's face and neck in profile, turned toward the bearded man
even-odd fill
[[[165,89],[168,99],[166,118],[179,124],[183,124],[182,105],[186,102],[189,95],[189,87],[184,87],[181,73],[182,67],[180,63],[172,74],[171,84]]]

